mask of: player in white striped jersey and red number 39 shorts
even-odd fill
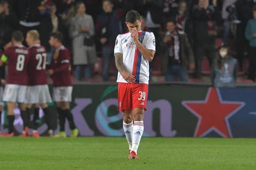
[[[114,55],[118,69],[118,107],[129,144],[129,159],[138,159],[137,150],[144,130],[143,115],[148,98],[149,62],[156,51],[153,33],[141,31],[140,14],[126,14],[128,33],[116,38]]]

